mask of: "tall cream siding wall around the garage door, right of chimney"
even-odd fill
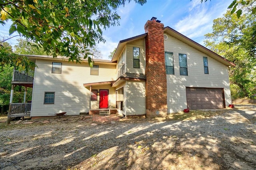
[[[231,104],[228,66],[168,35],[164,51],[173,52],[174,73],[167,78],[168,113],[187,108],[186,87],[224,88],[226,107]],[[187,55],[188,76],[180,76],[179,53]],[[203,57],[208,58],[209,74],[204,74]]]

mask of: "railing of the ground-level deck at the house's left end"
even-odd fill
[[[31,103],[10,103],[10,113],[13,114],[29,114],[31,111]]]

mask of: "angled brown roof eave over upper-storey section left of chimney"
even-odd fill
[[[146,36],[148,35],[148,33],[145,33],[145,34],[141,34],[141,35],[138,35],[138,36],[135,36],[135,37],[131,37],[131,38],[127,38],[125,40],[121,40],[119,43],[118,43],[118,46],[116,47],[116,51],[112,57],[112,60],[111,62],[114,62],[114,61],[117,61],[119,55],[122,53],[125,45],[129,42],[133,42],[133,41],[136,41],[136,40],[140,40],[142,38],[145,38]]]

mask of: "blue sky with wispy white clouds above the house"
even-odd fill
[[[221,17],[232,1],[208,0],[201,4],[200,0],[147,0],[143,6],[131,1],[117,10],[121,17],[120,26],[103,30],[106,43],[99,43],[97,46],[102,52],[103,59],[108,59],[108,55],[117,47],[120,40],[144,34],[144,25],[152,16],[160,20],[164,26],[169,26],[204,45],[204,35],[212,32],[212,21]],[[9,27],[10,24],[0,26],[1,39],[9,37]],[[11,45],[17,43],[15,38],[8,42]]]

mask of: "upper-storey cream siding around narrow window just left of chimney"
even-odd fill
[[[133,47],[140,48],[140,68],[133,67]],[[126,72],[128,73],[145,73],[145,40],[137,40],[126,45]]]

